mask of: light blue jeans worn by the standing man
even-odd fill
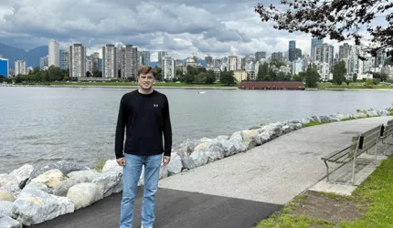
[[[160,167],[163,154],[137,156],[124,154],[125,166],[122,171],[122,204],[120,228],[131,228],[133,204],[136,188],[144,165],[144,184],[142,202],[143,228],[151,228],[154,223],[155,192],[158,188]]]

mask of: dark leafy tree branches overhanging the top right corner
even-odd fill
[[[371,36],[374,47],[366,48],[373,57],[377,50],[393,47],[393,2],[388,0],[281,0],[285,11],[275,5],[255,6],[255,12],[263,22],[273,21],[275,29],[292,32],[303,32],[322,39],[329,37],[338,42],[355,39],[356,45],[366,36]],[[388,13],[384,15],[384,13]],[[377,23],[375,19],[385,16],[388,23]],[[366,26],[366,29],[362,28]],[[366,30],[366,34],[365,34]],[[390,50],[388,56],[393,56]],[[364,57],[362,57],[364,58]]]

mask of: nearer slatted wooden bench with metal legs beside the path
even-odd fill
[[[376,164],[377,164],[377,143],[381,135],[384,132],[384,125],[378,125],[377,127],[367,130],[359,135],[356,135],[352,138],[351,144],[346,147],[344,150],[334,151],[323,158],[324,164],[326,166],[327,175],[326,179],[329,181],[329,174],[333,171],[329,172],[329,166],[327,162],[333,162],[337,164],[341,164],[338,168],[334,171],[340,169],[345,164],[349,162],[352,163],[352,184],[355,184],[355,167],[356,167],[356,159],[364,152],[375,146],[376,152]]]

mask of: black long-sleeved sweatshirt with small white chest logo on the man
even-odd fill
[[[172,127],[168,99],[164,94],[155,90],[142,94],[136,89],[122,96],[114,150],[116,159],[124,157],[123,152],[143,156],[164,152],[165,156],[171,156]]]

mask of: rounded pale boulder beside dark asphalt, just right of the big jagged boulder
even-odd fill
[[[69,188],[67,198],[74,203],[75,210],[79,210],[103,199],[103,190],[95,183],[79,183]]]

